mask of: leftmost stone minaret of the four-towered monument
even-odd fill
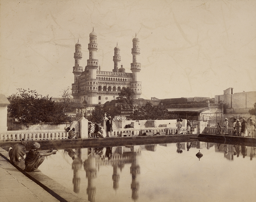
[[[79,76],[83,72],[83,67],[79,66],[79,62],[82,59],[81,44],[78,42],[75,45],[74,59],[75,66],[73,66],[74,83],[72,83],[72,96],[74,102],[79,102]]]

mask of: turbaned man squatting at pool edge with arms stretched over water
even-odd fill
[[[37,143],[37,142],[34,142],[31,145],[31,149],[29,150],[29,152],[26,156],[26,159],[25,159],[25,169],[24,169],[24,171],[26,171],[26,172],[32,172],[32,171],[41,172],[37,168],[45,160],[45,156],[56,154],[56,151],[52,151],[52,149],[49,150],[48,152],[36,151],[39,148],[40,148],[40,144]]]

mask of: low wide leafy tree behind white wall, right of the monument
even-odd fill
[[[133,120],[163,120],[168,119],[167,109],[154,107],[152,102],[148,101],[145,106],[139,106],[133,111],[131,118]]]

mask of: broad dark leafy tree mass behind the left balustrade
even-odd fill
[[[18,88],[19,92],[8,96],[9,116],[25,124],[38,122],[65,122],[66,116],[59,105],[51,102],[48,95],[43,97],[35,90]]]

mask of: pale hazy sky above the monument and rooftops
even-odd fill
[[[131,72],[137,33],[141,98],[256,91],[255,0],[1,0],[1,93],[60,96],[74,80],[78,38],[87,64],[93,27],[102,71],[114,68],[118,42],[120,66]]]

